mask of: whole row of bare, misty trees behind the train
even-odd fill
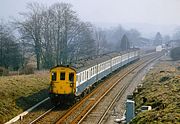
[[[127,31],[118,26],[102,30],[83,22],[68,3],[51,6],[29,3],[27,8],[27,12],[20,13],[22,19],[14,19],[12,26],[0,24],[2,67],[17,70],[33,57],[38,70],[71,64],[94,55],[125,50],[123,42],[130,48],[140,37],[135,29]]]

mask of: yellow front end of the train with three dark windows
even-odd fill
[[[55,66],[50,70],[50,98],[54,104],[72,103],[76,92],[76,70],[68,66]]]

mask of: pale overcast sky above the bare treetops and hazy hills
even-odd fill
[[[26,3],[68,2],[84,21],[180,25],[180,0],[0,0],[0,18],[17,17]]]

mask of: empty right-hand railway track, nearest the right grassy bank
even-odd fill
[[[153,58],[152,60],[146,62],[145,64],[138,66],[138,69],[135,68],[136,72],[141,71],[143,68],[145,68],[148,64],[150,64],[155,59],[156,58]],[[132,69],[130,71],[134,72],[135,69]],[[134,75],[133,77],[136,76],[136,74],[133,74],[133,75]],[[124,92],[127,90],[129,85],[131,84],[131,82],[123,83],[123,82],[121,82],[121,80],[120,80],[119,83],[121,84],[121,86],[119,85],[117,87],[112,88],[111,91],[110,91],[111,93],[108,92],[106,94],[106,97],[102,96],[101,101],[100,100],[99,100],[100,102],[97,101],[96,104],[94,106],[92,106],[91,109],[89,109],[88,112],[85,115],[83,115],[82,118],[79,118],[79,120],[77,120],[76,123],[78,123],[78,124],[80,124],[80,123],[88,123],[89,124],[89,122],[91,120],[97,120],[96,122],[93,122],[93,124],[94,123],[101,124],[101,123],[105,122],[105,120],[106,120],[105,117],[108,114],[108,112],[113,108],[115,103],[122,97]],[[114,91],[112,91],[112,90],[114,90]],[[116,91],[118,91],[118,92],[116,92]],[[110,103],[108,102],[109,100],[111,101]],[[108,104],[106,104],[106,103],[108,103]],[[102,107],[102,106],[105,106],[105,107]],[[103,112],[100,112],[101,110],[103,110]],[[97,117],[94,116],[93,113],[96,113],[96,115],[98,115],[98,116]]]

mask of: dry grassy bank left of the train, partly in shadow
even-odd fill
[[[4,123],[48,96],[48,72],[0,77],[0,123]]]

